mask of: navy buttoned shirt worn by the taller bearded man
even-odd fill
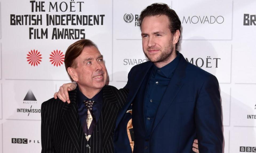
[[[158,105],[179,63],[179,58],[180,55],[177,53],[177,57],[164,67],[158,68],[154,65],[150,74],[144,101],[145,124],[148,131],[151,131]]]

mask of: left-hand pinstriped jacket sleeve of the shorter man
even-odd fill
[[[42,142],[42,153],[53,153],[53,141],[51,138],[51,129],[49,126],[50,119],[47,114],[47,107],[45,102],[41,106],[41,142]]]

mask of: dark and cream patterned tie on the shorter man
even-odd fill
[[[83,123],[83,131],[85,132],[86,140],[89,141],[91,134],[93,133],[93,129],[96,125],[95,117],[93,116],[93,100],[85,100],[83,103],[87,109],[87,119],[85,119]]]

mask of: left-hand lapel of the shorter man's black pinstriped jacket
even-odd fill
[[[75,146],[77,152],[80,152],[79,146],[79,131],[78,131],[78,112],[77,112],[77,103],[76,103],[76,90],[73,90],[69,93],[70,104],[65,103],[62,116],[62,123],[65,127],[65,132],[69,135],[71,142]]]

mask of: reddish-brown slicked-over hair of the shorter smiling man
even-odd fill
[[[69,48],[67,48],[67,51],[65,53],[65,59],[64,59],[66,71],[68,67],[73,67],[73,68],[77,67],[77,63],[75,62],[75,59],[82,53],[85,47],[90,47],[90,46],[94,46],[98,49],[97,45],[89,39],[78,40],[75,43],[71,44]],[[72,81],[74,81],[70,75],[69,75],[69,78]]]

